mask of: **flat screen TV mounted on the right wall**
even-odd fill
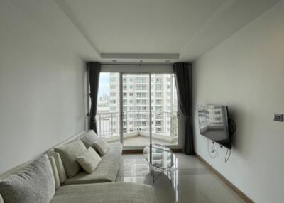
[[[228,107],[218,105],[201,105],[197,107],[200,134],[206,138],[231,149],[229,133]]]

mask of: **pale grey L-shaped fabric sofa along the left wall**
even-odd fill
[[[84,138],[86,134],[89,136],[88,133],[90,131],[81,133],[77,138],[86,141]],[[120,145],[111,146],[102,158],[101,166],[98,165],[94,171],[98,175],[80,171],[71,178],[66,177],[58,153],[50,150],[47,155],[41,155],[31,164],[0,180],[0,203],[156,202],[155,191],[149,185],[114,182],[121,150]]]

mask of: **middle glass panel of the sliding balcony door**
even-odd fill
[[[150,143],[150,75],[123,74],[124,146]]]

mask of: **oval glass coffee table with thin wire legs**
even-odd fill
[[[153,144],[144,148],[143,155],[150,165],[153,182],[155,182],[155,180],[157,180],[162,174],[165,174],[166,177],[172,181],[171,168],[175,165],[175,154],[172,150],[170,150],[170,148]],[[159,172],[156,177],[155,171]]]

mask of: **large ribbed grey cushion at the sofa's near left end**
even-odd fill
[[[47,155],[41,155],[22,170],[0,181],[4,202],[50,202],[55,194],[53,170]]]

